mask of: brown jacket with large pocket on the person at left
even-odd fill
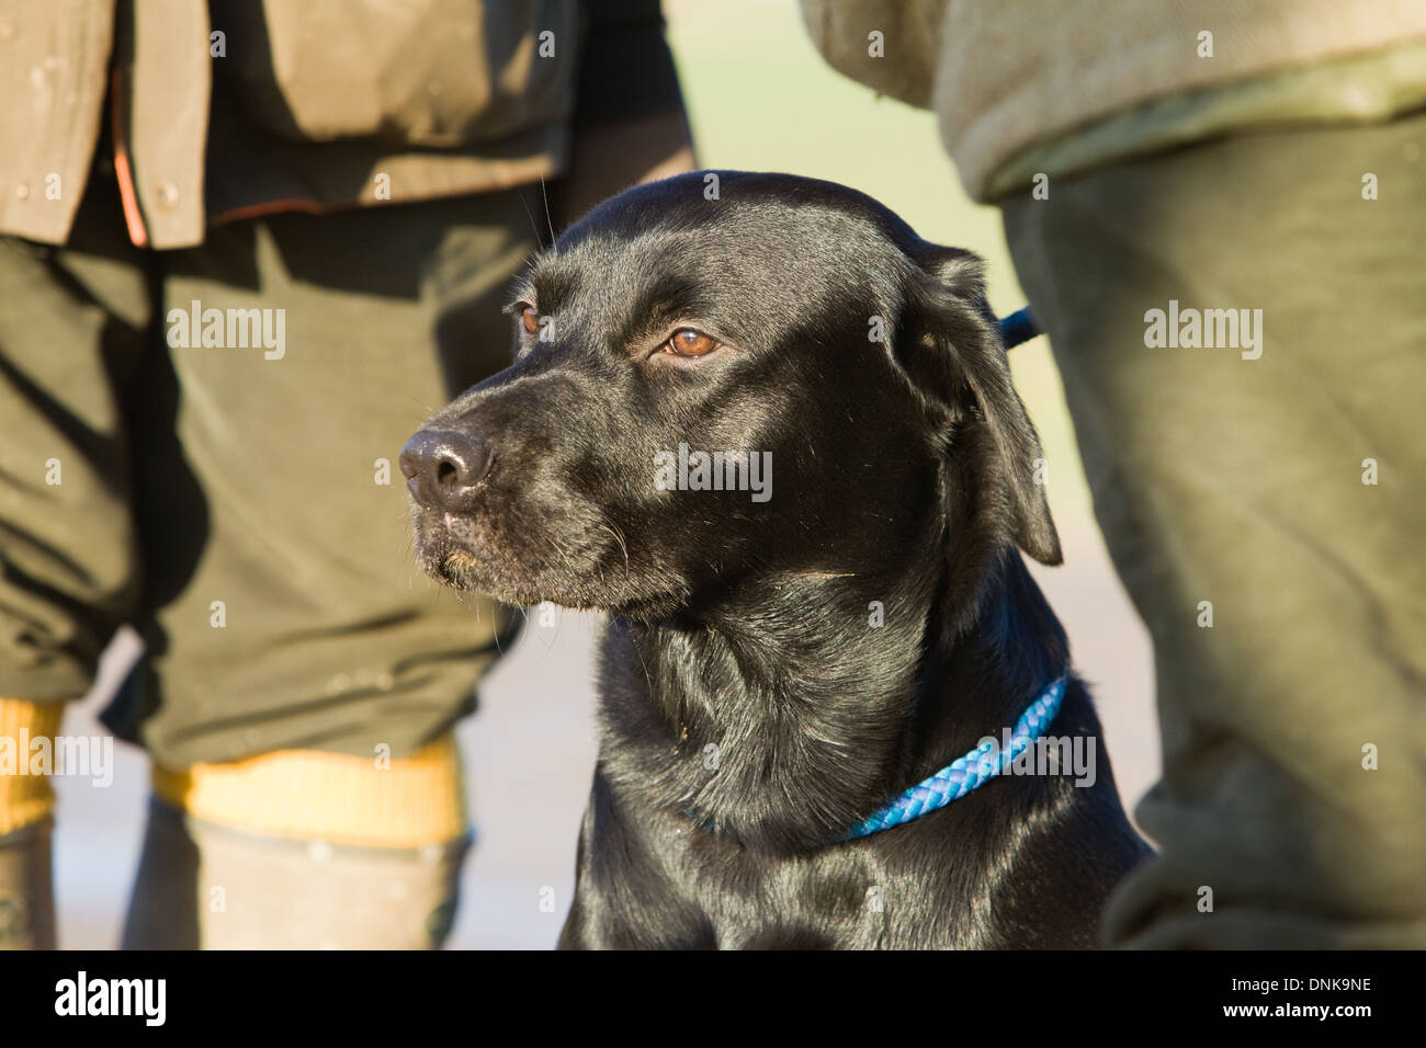
[[[576,0],[0,0],[0,232],[64,241],[106,115],[157,248],[555,175],[579,31]]]

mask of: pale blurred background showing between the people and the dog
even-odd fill
[[[897,211],[924,238],[987,260],[998,314],[1025,299],[1015,282],[998,211],[971,204],[935,131],[935,118],[827,67],[793,0],[665,0],[669,37],[703,167],[787,171],[843,183]],[[1078,672],[1094,687],[1125,807],[1158,774],[1152,656],[1094,523],[1060,378],[1042,338],[1011,352],[1020,394],[1048,461],[1050,503],[1062,567],[1031,563],[1064,620]],[[432,589],[434,585],[432,585]],[[592,644],[599,623],[562,613],[530,620],[515,650],[486,677],[481,711],[462,723],[466,787],[478,846],[466,864],[452,948],[549,948],[573,887],[575,844],[595,760]],[[64,731],[94,721],[137,642],[121,635]],[[56,891],[60,945],[111,948],[137,864],[147,759],[117,747],[114,784],[58,777]],[[555,890],[553,913],[539,908]]]

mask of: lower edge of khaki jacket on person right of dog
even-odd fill
[[[1235,127],[1380,120],[1426,103],[1422,0],[801,0],[801,9],[834,68],[937,113],[980,201],[1055,160],[1074,173]],[[1413,44],[1410,60],[1392,54]],[[1382,60],[1363,61],[1370,56]],[[1309,76],[1326,66],[1335,73]],[[1051,148],[1070,135],[1081,141]],[[1035,163],[1015,164],[1035,148]]]

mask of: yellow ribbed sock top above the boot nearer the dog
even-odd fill
[[[319,750],[277,750],[187,771],[154,764],[153,787],[195,818],[275,837],[408,848],[466,830],[452,733],[385,767],[375,756]]]

